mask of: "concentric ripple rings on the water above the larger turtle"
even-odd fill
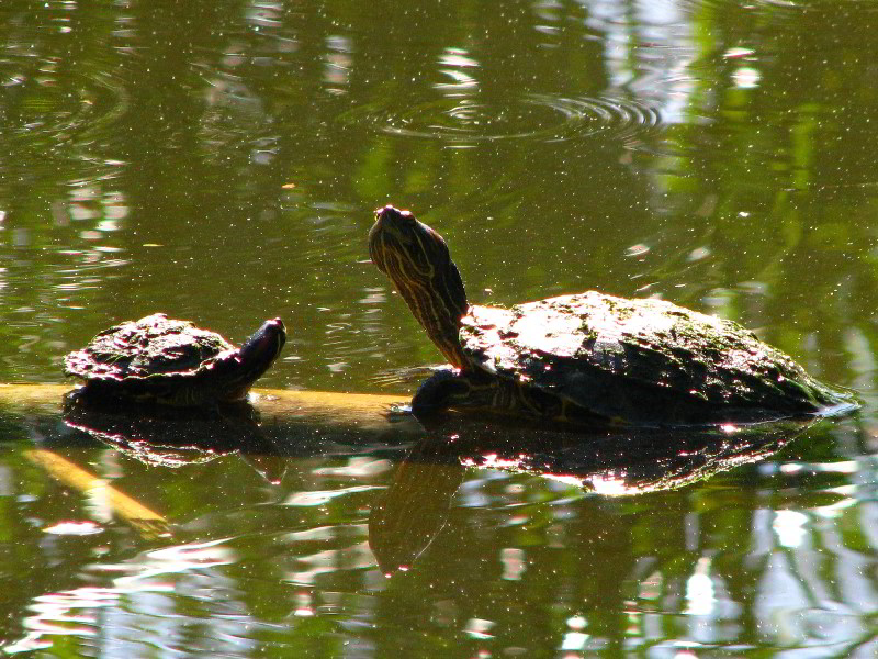
[[[349,124],[369,125],[392,135],[450,143],[496,139],[573,139],[603,134],[643,136],[662,125],[658,109],[615,97],[564,98],[528,94],[497,108],[476,99],[449,98],[403,110],[363,107],[341,115]]]

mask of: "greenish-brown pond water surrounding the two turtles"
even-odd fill
[[[863,410],[665,480],[567,435],[577,479],[337,431],[351,396],[271,450],[157,457],[14,390],[0,648],[878,655],[876,43],[871,1],[3,0],[1,382],[164,311],[235,342],[281,316],[260,387],[404,400],[441,356],[368,260],[394,203],[473,302],[660,297]]]

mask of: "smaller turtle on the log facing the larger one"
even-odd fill
[[[78,396],[120,399],[175,407],[243,401],[280,355],[286,330],[266,321],[236,348],[189,321],[154,313],[98,334],[65,357],[65,373],[85,381]]]

